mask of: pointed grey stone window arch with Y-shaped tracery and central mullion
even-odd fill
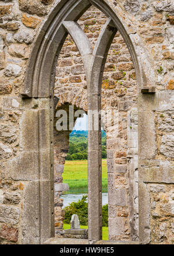
[[[100,33],[95,49],[91,47],[88,38],[77,24],[79,17],[81,17],[91,5],[95,5],[108,17],[107,23]],[[60,1],[48,16],[48,20],[46,20],[45,24],[42,26],[35,40],[31,58],[28,63],[24,90],[21,95],[23,98],[38,98],[39,101],[38,113],[32,113],[38,122],[37,153],[39,165],[37,168],[37,182],[34,180],[32,184],[34,189],[38,191],[38,210],[32,215],[32,218],[37,219],[37,221],[34,223],[30,221],[28,214],[30,212],[29,208],[28,210],[26,208],[26,215],[24,217],[28,222],[28,227],[25,227],[25,229],[29,229],[30,226],[30,229],[37,231],[35,234],[37,233],[38,243],[44,243],[46,239],[54,236],[52,154],[53,88],[55,67],[61,47],[67,34],[70,33],[81,52],[84,62],[88,84],[88,109],[91,111],[100,111],[104,63],[108,49],[110,48],[110,44],[117,30],[121,33],[131,53],[136,69],[139,91],[153,92],[154,88],[148,83],[146,72],[142,69],[137,58],[131,36],[129,36],[122,22],[104,0]],[[91,120],[93,127],[93,119]],[[92,129],[88,134],[90,243],[102,239],[102,158],[100,126],[101,118],[99,116],[99,130],[95,131]],[[28,150],[32,150],[32,148],[28,148]],[[93,159],[96,161],[94,162]],[[35,234],[30,233],[30,243],[34,243]]]

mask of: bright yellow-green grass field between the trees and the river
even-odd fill
[[[66,161],[62,176],[63,183],[69,185],[69,194],[88,192],[88,160]],[[102,191],[107,192],[106,159],[102,159],[102,187]]]

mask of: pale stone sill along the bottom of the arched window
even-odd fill
[[[90,244],[88,239],[69,239],[52,237],[44,242],[44,244]],[[139,244],[133,241],[105,241],[100,240],[93,244]]]

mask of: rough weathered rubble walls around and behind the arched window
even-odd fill
[[[39,162],[39,133],[36,126],[38,127],[40,120],[39,122],[45,122],[46,129],[49,129],[50,123],[53,122],[52,118],[48,121],[41,116],[46,116],[45,113],[52,106],[44,98],[22,99],[20,93],[23,91],[28,57],[34,38],[37,38],[39,27],[48,19],[49,11],[59,2],[59,0],[0,2],[0,243],[2,244],[41,243],[40,221],[42,226],[44,224],[43,219],[39,219],[39,212],[43,213],[45,208],[38,202],[41,197],[45,197],[45,202],[50,202],[48,191],[52,191],[52,185],[50,181],[44,183],[43,173],[38,176],[37,170],[42,162],[43,172],[46,166],[48,168],[50,165],[50,159],[46,157],[49,151],[45,144],[49,144],[52,138],[47,140],[45,137],[45,144],[39,145],[39,150],[41,151],[41,148],[43,150],[42,159],[44,159]],[[129,225],[129,217],[132,218],[135,212],[130,213],[128,194],[129,182],[130,180],[132,182],[132,179],[129,179],[130,161],[135,159],[136,162],[136,154],[132,155],[133,160],[132,156],[130,160],[126,153],[129,134],[126,119],[128,111],[136,108],[139,101],[140,242],[173,243],[173,1],[106,0],[106,2],[119,19],[122,19],[136,49],[138,61],[143,67],[142,77],[137,77],[137,80],[142,79],[145,87],[154,86],[156,89],[155,94],[142,94],[140,84],[137,84],[136,95],[135,71],[124,40],[117,34],[109,52],[111,55],[108,55],[102,91],[102,108],[118,108],[121,120],[118,138],[115,138],[111,132],[107,133],[109,222],[113,227],[110,229],[110,239],[125,240],[130,239],[131,235],[134,236],[134,234],[130,235],[130,232],[135,225],[133,227]],[[80,20],[80,23],[87,22],[84,24],[84,29],[90,40],[95,43],[95,38],[100,32],[97,29],[102,26],[99,20],[103,23],[105,18],[100,12],[92,10],[84,17],[85,19]],[[94,24],[91,24],[92,20]],[[68,43],[69,40],[64,47],[68,52],[62,51],[61,59],[64,56],[66,57],[64,59],[69,59],[70,62],[67,63],[66,69],[60,67],[61,62],[59,63],[55,93],[60,98],[60,104],[68,102],[86,110],[85,76],[79,66],[82,63],[75,45]],[[128,48],[131,49],[129,45]],[[72,59],[68,56],[70,49]],[[63,59],[61,61],[62,65],[66,66]],[[61,68],[69,70],[66,75],[60,72]],[[65,80],[60,80],[61,77]],[[129,172],[126,172],[127,168]],[[136,179],[137,177],[135,182]],[[38,180],[42,180],[42,188],[47,188],[43,189],[45,194],[39,195]],[[116,189],[118,185],[119,189]],[[61,202],[59,204],[58,207],[61,207]],[[28,221],[29,216],[30,221]],[[46,215],[42,214],[42,216]],[[49,230],[51,225],[44,226],[45,230]],[[44,234],[42,238],[44,239]]]

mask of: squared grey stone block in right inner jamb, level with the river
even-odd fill
[[[108,187],[108,204],[109,205],[126,205],[126,191],[123,188]]]

